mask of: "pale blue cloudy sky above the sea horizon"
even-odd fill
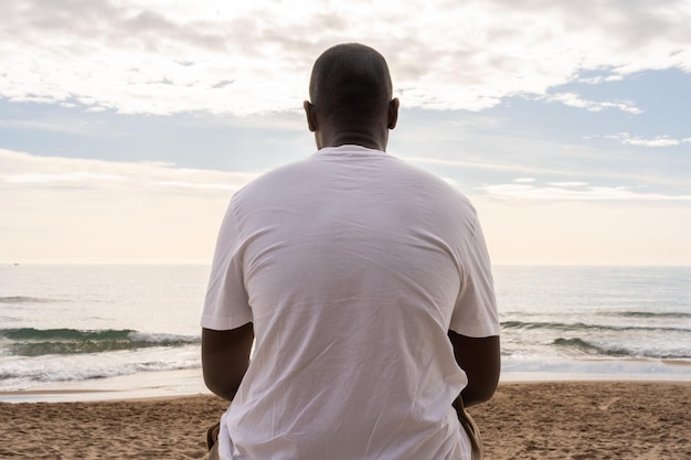
[[[210,264],[228,200],[312,154],[311,65],[387,60],[389,153],[493,264],[691,265],[691,1],[3,0],[0,263]]]

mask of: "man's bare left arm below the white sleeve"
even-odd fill
[[[230,331],[202,329],[202,370],[206,387],[233,400],[249,365],[254,341],[252,323]]]

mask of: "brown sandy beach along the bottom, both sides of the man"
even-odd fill
[[[0,403],[0,458],[200,459],[225,407],[213,396]],[[691,459],[689,383],[502,384],[470,413],[488,460]]]

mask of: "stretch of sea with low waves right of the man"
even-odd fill
[[[691,267],[496,267],[507,379],[691,379]]]

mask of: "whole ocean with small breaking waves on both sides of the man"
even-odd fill
[[[204,393],[209,270],[0,265],[0,402]],[[493,275],[502,381],[691,381],[691,267],[496,266]]]

